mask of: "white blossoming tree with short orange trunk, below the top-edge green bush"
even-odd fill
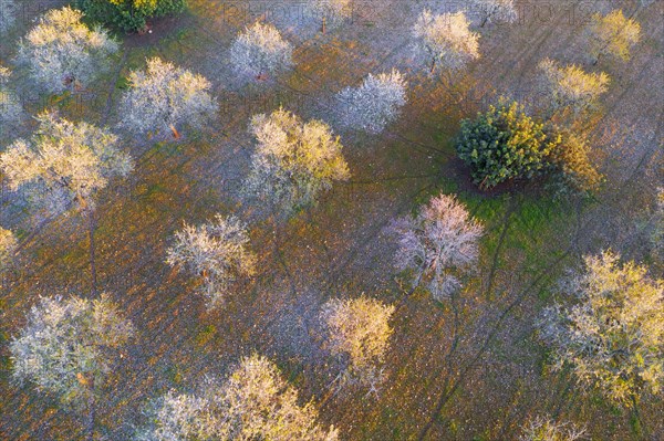
[[[136,135],[170,130],[179,138],[177,127],[203,128],[219,107],[205,77],[158,57],[147,60],[146,71],[132,72],[128,81],[131,87],[121,104],[121,127]]]

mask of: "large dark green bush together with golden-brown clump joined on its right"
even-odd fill
[[[602,182],[582,136],[531,118],[517,102],[501,99],[463,120],[456,148],[480,188],[536,176],[552,177],[573,191],[592,191]]]

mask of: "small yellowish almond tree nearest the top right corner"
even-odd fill
[[[602,17],[595,13],[590,25],[590,53],[596,64],[602,55],[622,61],[630,59],[630,51],[641,39],[641,25],[615,9]]]

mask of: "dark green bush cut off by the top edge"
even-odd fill
[[[93,21],[135,32],[144,30],[149,19],[181,12],[186,0],[77,0],[77,6]]]

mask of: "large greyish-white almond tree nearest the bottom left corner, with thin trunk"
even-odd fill
[[[92,301],[42,297],[9,345],[13,378],[55,393],[75,410],[86,408],[92,440],[100,391],[133,335],[132,324],[105,295]]]

